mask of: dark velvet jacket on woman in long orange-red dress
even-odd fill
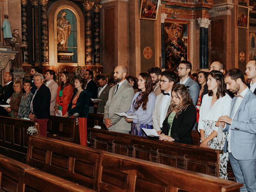
[[[72,108],[72,102],[73,102],[74,96],[76,95],[76,92],[74,92],[72,99],[70,101],[70,104],[68,106],[68,115],[71,116],[74,113],[78,113],[79,114],[78,117],[88,117],[89,100],[92,94],[88,90],[83,90],[76,101],[76,106]]]

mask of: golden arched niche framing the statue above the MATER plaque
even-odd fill
[[[65,45],[65,37],[61,35],[60,15],[66,12],[66,20],[70,23],[70,35]],[[67,23],[62,26],[66,28]],[[62,29],[63,29],[62,28]],[[66,30],[66,29],[65,29]],[[48,34],[49,34],[49,65],[77,66],[85,64],[84,44],[84,15],[80,8],[73,2],[60,0],[50,6],[48,10]],[[61,38],[62,37],[62,38]],[[60,46],[63,46],[62,48]],[[74,53],[72,55],[72,53]],[[67,60],[64,60],[66,55]],[[70,61],[70,55],[72,60]],[[61,59],[60,59],[61,57]]]

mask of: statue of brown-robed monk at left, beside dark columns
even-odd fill
[[[15,55],[14,61],[12,63],[12,68],[22,68],[22,48],[27,48],[28,45],[22,44],[22,40],[19,35],[19,30],[14,29],[14,33],[12,34],[12,38],[15,43],[15,51],[18,53]]]

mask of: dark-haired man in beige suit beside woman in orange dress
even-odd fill
[[[51,92],[50,115],[54,115],[54,106],[55,106],[55,100],[56,100],[57,89],[58,89],[58,83],[54,81],[55,78],[56,78],[56,75],[54,70],[49,70],[49,69],[46,70],[45,85],[50,89],[50,92]]]

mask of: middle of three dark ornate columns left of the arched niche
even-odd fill
[[[39,61],[39,42],[38,42],[38,0],[30,0],[33,6],[33,60]]]

